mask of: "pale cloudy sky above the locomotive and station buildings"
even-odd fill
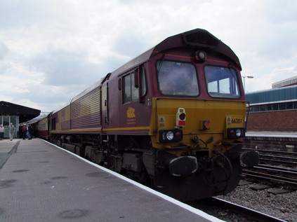
[[[168,36],[206,29],[246,91],[297,76],[296,0],[0,0],[0,101],[53,111]]]

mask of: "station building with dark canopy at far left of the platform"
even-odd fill
[[[4,138],[8,138],[8,125],[15,126],[15,137],[20,137],[20,123],[27,122],[39,116],[39,109],[32,109],[27,106],[20,106],[11,102],[0,101],[0,124],[5,128]]]

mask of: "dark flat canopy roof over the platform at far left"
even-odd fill
[[[19,116],[19,122],[24,123],[39,116],[39,109],[32,109],[27,106],[20,106],[11,102],[0,101],[0,116]]]

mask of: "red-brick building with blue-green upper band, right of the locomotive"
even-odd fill
[[[248,131],[297,132],[297,76],[272,84],[271,90],[246,93],[246,100]]]

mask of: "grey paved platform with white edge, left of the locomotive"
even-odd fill
[[[41,139],[0,141],[0,221],[220,221]]]

